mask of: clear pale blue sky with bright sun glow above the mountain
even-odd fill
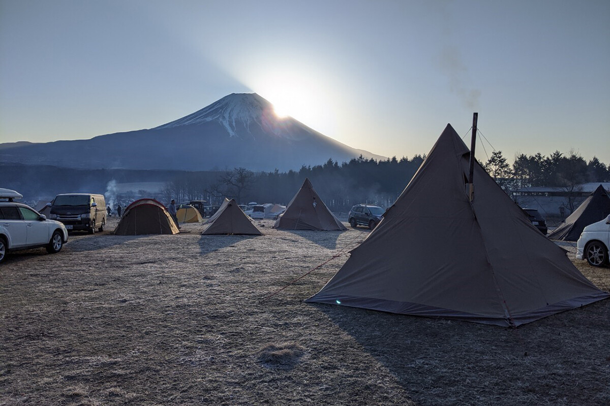
[[[610,164],[610,1],[0,0],[0,142],[152,128],[249,92],[384,156],[427,153],[447,123],[466,135],[478,111],[511,162]]]

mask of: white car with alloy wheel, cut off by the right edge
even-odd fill
[[[610,247],[610,215],[583,229],[576,242],[576,258],[586,259],[594,267],[608,265],[610,263],[608,247]]]

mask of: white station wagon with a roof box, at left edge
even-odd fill
[[[55,254],[68,242],[68,230],[62,223],[14,201],[21,197],[10,189],[0,189],[0,262],[9,251],[45,247],[49,254]]]

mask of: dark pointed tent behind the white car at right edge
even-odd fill
[[[610,196],[603,186],[598,186],[578,209],[569,215],[558,228],[548,234],[551,240],[576,241],[586,226],[605,219],[610,214]]]

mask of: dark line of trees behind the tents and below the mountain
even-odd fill
[[[253,172],[243,167],[224,172],[186,172],[165,184],[163,198],[178,201],[207,200],[220,205],[224,197],[240,204],[281,203],[287,205],[305,178],[331,211],[348,211],[357,203],[389,207],[401,194],[425,155],[384,161],[360,156],[342,164],[328,159],[315,166],[302,166],[288,172]],[[585,159],[575,152],[559,151],[550,156],[519,154],[509,164],[501,151],[481,163],[503,189],[511,192],[526,186],[550,186],[573,191],[578,184],[610,181],[610,168],[597,157]]]

